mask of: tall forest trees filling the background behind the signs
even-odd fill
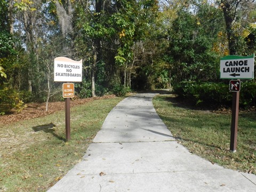
[[[220,58],[256,47],[254,0],[0,0],[0,14],[1,114],[62,99],[57,57],[83,59],[78,98],[171,86],[185,95],[181,82],[221,83]]]

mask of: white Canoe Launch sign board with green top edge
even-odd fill
[[[249,57],[228,55],[220,59],[220,78],[253,79],[254,54]]]

